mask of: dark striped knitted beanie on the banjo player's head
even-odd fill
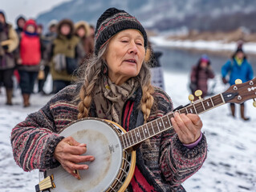
[[[144,38],[144,47],[148,45],[147,33],[135,17],[132,17],[124,10],[117,10],[116,8],[105,10],[98,19],[95,29],[95,54],[99,53],[101,47],[112,36],[121,30],[128,29],[139,30]]]

